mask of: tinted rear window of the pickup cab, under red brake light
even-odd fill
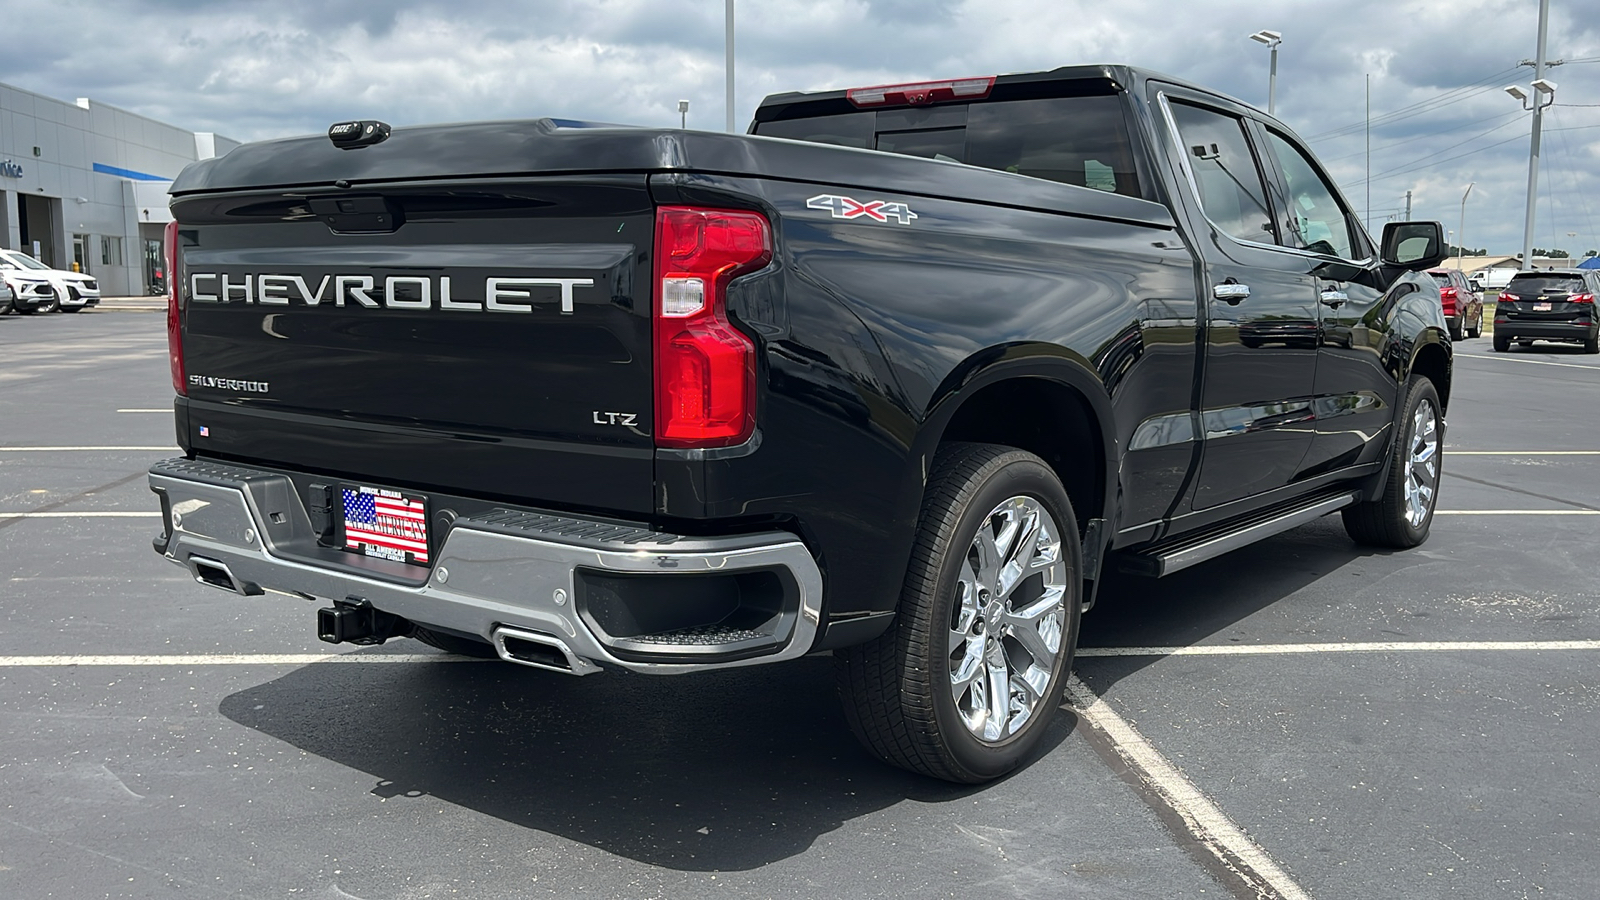
[[[760,122],[757,135],[963,162],[1139,197],[1118,96],[898,107]]]

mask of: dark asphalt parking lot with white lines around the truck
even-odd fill
[[[1600,357],[1458,346],[1416,551],[1107,585],[981,790],[867,759],[826,658],[573,679],[195,585],[170,396],[160,315],[0,319],[0,897],[1600,897]]]

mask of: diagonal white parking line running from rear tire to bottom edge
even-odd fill
[[[1306,890],[1278,863],[1250,839],[1227,814],[1200,793],[1176,765],[1168,762],[1150,741],[1144,740],[1126,719],[1094,695],[1077,677],[1067,679],[1067,697],[1078,714],[1112,741],[1112,748],[1160,801],[1178,814],[1184,828],[1211,852],[1224,868],[1243,881],[1258,897],[1272,900],[1310,900]]]

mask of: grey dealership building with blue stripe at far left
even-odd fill
[[[78,98],[0,85],[0,245],[144,295],[162,267],[166,189],[238,141]]]

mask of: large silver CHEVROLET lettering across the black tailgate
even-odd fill
[[[477,283],[477,282],[474,282]],[[312,280],[288,274],[192,272],[189,293],[195,303],[259,303],[266,306],[365,306],[368,309],[434,309],[454,312],[533,312],[534,304],[555,301],[571,315],[578,288],[594,279],[490,277],[483,291],[459,296],[450,275],[322,275]]]

